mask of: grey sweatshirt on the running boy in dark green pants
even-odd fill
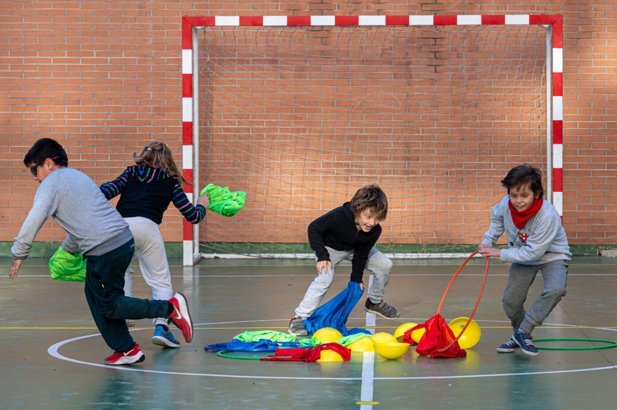
[[[128,224],[86,174],[59,168],[36,190],[32,209],[10,249],[25,259],[45,221],[52,217],[68,232],[62,248],[81,255],[103,255],[133,239]]]

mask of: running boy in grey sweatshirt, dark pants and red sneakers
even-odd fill
[[[107,364],[133,364],[144,360],[139,345],[128,332],[125,319],[170,318],[186,342],[193,338],[193,323],[186,298],[176,293],[170,300],[146,300],[124,295],[124,273],[131,263],[135,242],[128,224],[107,202],[86,174],[67,168],[65,150],[53,139],[35,142],[23,158],[39,182],[32,209],[11,248],[13,279],[30,253],[32,242],[51,216],[68,232],[62,248],[80,253],[86,264],[85,293],[94,322],[115,353]]]

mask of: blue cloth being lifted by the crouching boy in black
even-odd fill
[[[341,332],[343,336],[357,333],[371,334],[366,329],[354,327],[354,329],[347,330],[345,326],[349,314],[354,310],[363,292],[357,282],[349,282],[346,289],[342,290],[341,293],[333,297],[325,305],[318,307],[310,318],[302,321],[309,335],[312,335],[322,327],[332,327]]]

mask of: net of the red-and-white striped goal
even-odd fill
[[[377,183],[378,248],[468,252],[521,163],[547,170],[538,25],[206,27],[196,181],[247,192],[212,212],[204,255],[310,257],[307,226]],[[548,174],[548,175],[547,175]]]

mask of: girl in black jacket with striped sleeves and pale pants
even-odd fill
[[[129,166],[114,179],[101,185],[107,200],[120,195],[116,209],[129,224],[135,237],[135,256],[146,283],[152,289],[153,299],[172,297],[172,278],[165,253],[159,224],[170,202],[189,223],[197,224],[205,216],[207,195],[197,200],[197,206],[188,199],[182,184],[189,184],[176,168],[172,151],[164,142],[153,141],[141,154],[133,153],[136,165]],[[133,295],[133,268],[126,269],[124,292]],[[135,322],[128,321],[129,326]],[[180,343],[173,337],[165,318],[154,319],[155,330],[151,342],[155,345],[177,348]]]

